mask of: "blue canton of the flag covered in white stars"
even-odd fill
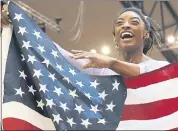
[[[121,77],[80,72],[17,5],[10,3],[9,13],[14,30],[4,102],[27,105],[56,129],[115,130],[126,98]]]

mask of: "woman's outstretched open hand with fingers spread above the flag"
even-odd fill
[[[97,53],[86,52],[82,50],[72,50],[72,55],[70,56],[73,59],[89,59],[89,62],[83,65],[83,68],[110,68],[114,58],[100,55]]]

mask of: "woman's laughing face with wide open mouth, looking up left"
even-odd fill
[[[133,12],[122,13],[115,23],[115,42],[120,49],[134,51],[143,48],[146,34],[145,25],[141,17]]]

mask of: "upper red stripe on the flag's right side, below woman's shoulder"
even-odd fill
[[[127,88],[136,89],[178,77],[178,62],[132,78],[124,78]]]

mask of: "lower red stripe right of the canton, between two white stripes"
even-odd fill
[[[178,111],[178,97],[148,104],[125,105],[122,120],[149,120]]]

